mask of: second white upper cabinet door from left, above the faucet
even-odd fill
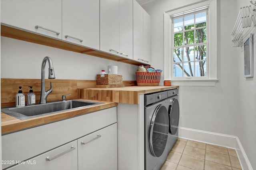
[[[62,40],[100,49],[100,0],[62,0]]]

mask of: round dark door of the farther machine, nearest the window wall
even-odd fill
[[[178,99],[172,99],[170,109],[169,109],[169,120],[170,120],[169,132],[171,134],[176,134],[178,130],[179,119],[180,119],[180,106],[179,106]]]

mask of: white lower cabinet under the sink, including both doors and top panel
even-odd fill
[[[117,170],[116,107],[2,135],[4,170]]]

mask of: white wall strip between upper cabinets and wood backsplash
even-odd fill
[[[1,37],[1,78],[41,79],[45,56],[52,59],[56,79],[96,80],[102,69],[107,71],[108,65],[117,65],[123,80],[136,80],[136,65],[6,37]]]

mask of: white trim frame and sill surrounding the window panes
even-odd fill
[[[171,20],[170,17],[175,14],[182,14],[184,12],[209,6],[208,10],[208,79],[202,79],[202,77],[182,77],[182,79],[171,79],[171,62],[170,62],[170,32]],[[194,4],[189,4],[181,8],[176,8],[170,11],[164,12],[164,79],[172,81],[172,85],[180,86],[215,86],[217,79],[217,0],[200,1]]]

